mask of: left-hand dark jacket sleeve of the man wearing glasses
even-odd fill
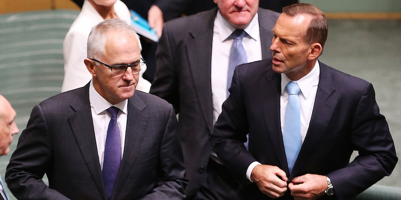
[[[51,156],[52,145],[46,119],[41,106],[36,105],[7,166],[6,182],[17,199],[68,199],[42,180],[51,167]]]

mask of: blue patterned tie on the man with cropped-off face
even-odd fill
[[[229,59],[229,70],[227,74],[227,97],[230,95],[229,88],[231,86],[231,81],[233,80],[233,73],[236,66],[247,63],[247,53],[242,45],[242,38],[247,35],[243,29],[236,29],[231,37],[234,38],[233,44],[230,50]]]

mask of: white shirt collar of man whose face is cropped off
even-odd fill
[[[217,12],[215,19],[215,28],[218,29],[220,40],[223,42],[236,30],[229,22],[224,19],[220,11]],[[255,14],[249,25],[244,29],[245,32],[253,39],[258,40],[260,38],[259,33],[259,18],[258,13]]]

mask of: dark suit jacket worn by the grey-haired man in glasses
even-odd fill
[[[47,174],[49,186],[42,177]],[[36,105],[7,167],[18,199],[104,199],[89,84]],[[178,123],[166,101],[136,90],[128,99],[125,149],[112,199],[182,199]]]

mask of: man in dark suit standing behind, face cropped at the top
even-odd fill
[[[258,10],[259,0],[215,2],[219,9],[165,23],[150,89],[179,113],[188,199],[238,199],[239,183],[212,151],[210,133],[227,98],[229,65],[238,65],[229,58],[234,33],[245,35],[239,43],[247,62],[270,58],[271,30],[279,15]]]

